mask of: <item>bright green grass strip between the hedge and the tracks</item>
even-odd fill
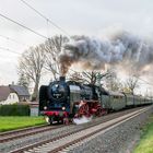
[[[0,116],[0,132],[44,125],[43,117],[2,117]]]

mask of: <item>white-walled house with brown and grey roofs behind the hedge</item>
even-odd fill
[[[0,86],[0,105],[28,102],[30,93],[24,86],[9,85]]]

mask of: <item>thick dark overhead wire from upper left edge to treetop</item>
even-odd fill
[[[34,33],[34,34],[36,34],[36,35],[38,35],[38,36],[40,36],[40,37],[43,37],[43,38],[45,38],[45,39],[47,39],[46,36],[44,36],[42,34],[35,32],[34,30],[32,30],[32,28],[30,28],[30,27],[27,27],[27,26],[25,26],[25,25],[16,22],[16,21],[14,21],[14,20],[12,20],[12,19],[10,19],[10,17],[8,17],[8,16],[1,14],[1,13],[0,13],[0,16],[3,17],[3,19],[5,19],[5,20],[8,20],[8,21],[10,21],[10,22],[12,22],[12,23],[14,23],[14,24],[16,24],[16,25],[19,25],[19,26],[21,26],[21,27],[23,27],[23,28],[25,28],[25,30],[27,30],[27,31],[30,31],[30,32],[32,32],[32,33]]]

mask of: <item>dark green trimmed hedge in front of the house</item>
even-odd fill
[[[1,105],[0,116],[30,116],[30,105]]]

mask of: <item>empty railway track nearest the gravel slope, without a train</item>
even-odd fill
[[[76,129],[68,133],[61,133],[58,137],[40,141],[24,148],[11,151],[10,153],[57,153],[67,150],[67,148],[73,148],[78,143],[82,142],[85,139],[90,139],[99,132],[104,132],[114,126],[121,123],[128,119],[133,118],[134,116],[140,115],[143,111],[146,111],[149,107],[137,108],[132,110],[127,110],[122,113],[115,114],[114,118],[106,118],[102,121],[97,121],[94,125],[84,126],[82,129]]]

